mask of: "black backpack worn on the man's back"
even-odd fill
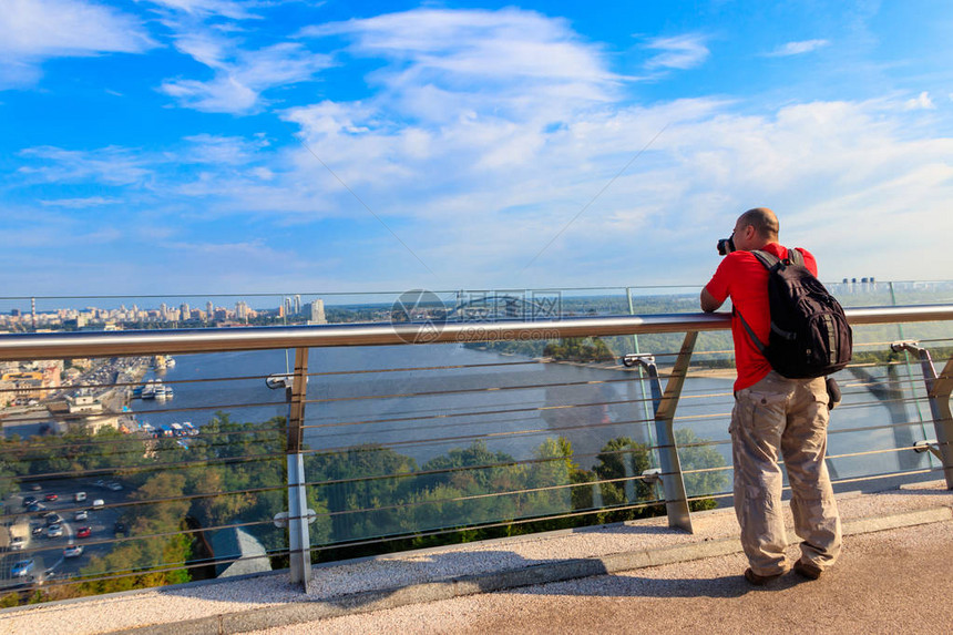
[[[797,249],[783,260],[767,252],[751,252],[768,269],[771,332],[767,346],[737,313],[771,368],[790,379],[823,377],[848,365],[853,334],[843,308],[805,267]]]

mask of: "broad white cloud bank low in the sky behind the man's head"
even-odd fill
[[[416,156],[402,153],[406,129],[346,134],[352,114],[325,104],[289,116],[377,214],[408,228],[406,242],[430,268],[452,267],[484,284],[623,284],[639,272],[659,284],[704,281],[714,238],[759,204],[775,207],[783,237],[812,248],[824,275],[837,279],[861,269],[916,277],[923,267],[951,265],[939,234],[925,238],[930,245],[916,258],[903,242],[884,238],[903,231],[899,218],[911,223],[904,227],[949,226],[953,196],[953,140],[912,139],[889,104],[817,102],[751,116],[698,100],[580,112],[565,130],[549,133],[465,120],[428,132],[427,151]],[[653,146],[521,272],[666,123]],[[294,184],[326,176],[300,154],[299,171],[283,174],[276,190],[304,194]],[[320,191],[331,208],[360,216],[329,178]],[[659,273],[673,240],[697,248],[699,258]],[[864,249],[846,244],[877,245],[885,256],[871,263]]]

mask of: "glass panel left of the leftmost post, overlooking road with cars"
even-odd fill
[[[287,404],[265,376],[284,370],[284,351],[8,369],[0,494],[34,571],[0,586],[58,598],[270,571],[288,550]]]

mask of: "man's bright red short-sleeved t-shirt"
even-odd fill
[[[769,243],[761,247],[761,250],[782,259],[788,257],[788,249],[777,243]],[[805,256],[805,266],[817,276],[818,264],[814,257],[807,249],[798,247],[798,250]],[[737,314],[745,316],[745,321],[761,344],[768,342],[768,335],[771,331],[768,269],[751,252],[731,252],[718,265],[705,288],[719,303],[724,303],[728,297],[731,298],[731,305],[735,307],[735,315],[731,317],[731,337],[735,340],[735,366],[738,369],[735,391],[754,386],[768,375],[771,365],[758,351],[758,347],[751,341]]]

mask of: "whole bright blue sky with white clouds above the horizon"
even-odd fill
[[[4,296],[953,277],[949,2],[3,7]]]

